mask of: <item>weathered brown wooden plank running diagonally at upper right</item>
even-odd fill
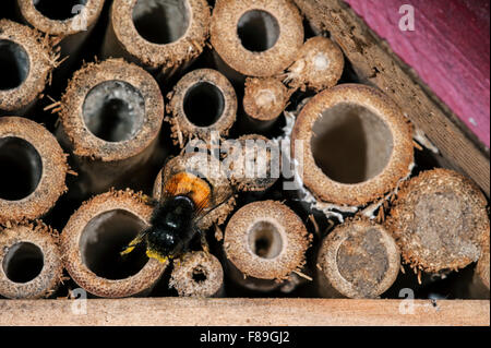
[[[295,0],[314,27],[328,31],[358,77],[384,91],[440,149],[453,169],[489,196],[490,161],[476,136],[342,0]]]

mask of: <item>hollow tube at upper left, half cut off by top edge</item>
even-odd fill
[[[16,0],[22,19],[58,44],[65,61],[55,71],[64,79],[77,62],[84,44],[95,27],[104,0]]]

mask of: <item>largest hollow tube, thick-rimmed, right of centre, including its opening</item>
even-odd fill
[[[394,190],[408,176],[412,129],[379,89],[338,85],[301,110],[291,151],[304,185],[316,199],[359,206]]]

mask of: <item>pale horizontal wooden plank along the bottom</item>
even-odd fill
[[[80,303],[80,302],[77,302]],[[338,299],[97,299],[86,314],[73,300],[0,300],[0,325],[185,325],[340,326],[489,325],[490,303],[477,300],[415,300],[414,314],[402,300]],[[81,307],[76,307],[80,309]]]

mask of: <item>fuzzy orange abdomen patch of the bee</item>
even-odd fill
[[[170,178],[164,187],[164,192],[170,196],[188,195],[196,205],[196,211],[208,207],[212,197],[209,184],[189,172],[179,172]]]

